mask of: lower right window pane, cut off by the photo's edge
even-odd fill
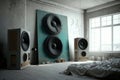
[[[113,27],[113,50],[120,51],[120,26]]]

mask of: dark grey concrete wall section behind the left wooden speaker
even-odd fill
[[[25,0],[0,0],[0,54],[7,58],[7,30],[25,27]]]

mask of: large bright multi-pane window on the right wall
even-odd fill
[[[89,19],[89,51],[120,51],[120,14]]]

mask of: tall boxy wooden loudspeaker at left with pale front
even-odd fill
[[[22,69],[30,64],[30,33],[8,29],[8,69]]]

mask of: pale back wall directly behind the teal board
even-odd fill
[[[31,33],[31,47],[35,47],[36,9],[45,10],[56,14],[65,15],[68,18],[69,50],[71,60],[74,57],[74,38],[83,37],[83,11],[71,9],[60,4],[53,5],[46,2],[27,0],[26,1],[26,26]]]

